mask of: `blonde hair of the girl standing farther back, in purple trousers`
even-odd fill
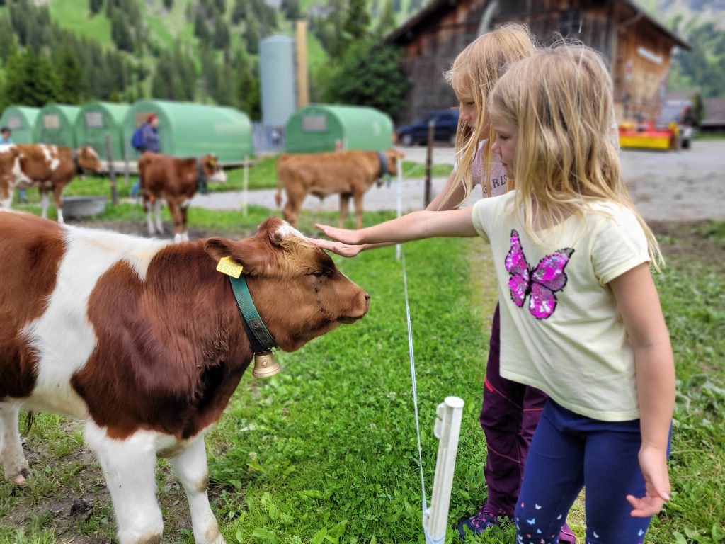
[[[464,188],[464,197],[457,205],[463,204],[471,194],[473,178],[471,163],[479,149],[479,131],[486,118],[486,99],[488,99],[496,81],[504,73],[506,67],[514,62],[529,57],[535,51],[534,41],[528,28],[523,25],[508,24],[479,36],[461,51],[453,61],[450,70],[444,73],[446,81],[451,84],[457,96],[471,97],[476,104],[476,131],[458,120],[455,154],[458,167],[455,183],[445,194],[442,205],[455,191],[459,184]],[[481,153],[484,157],[484,179],[487,194],[491,194],[489,176],[491,173],[491,145],[494,133],[489,129],[487,141]]]

